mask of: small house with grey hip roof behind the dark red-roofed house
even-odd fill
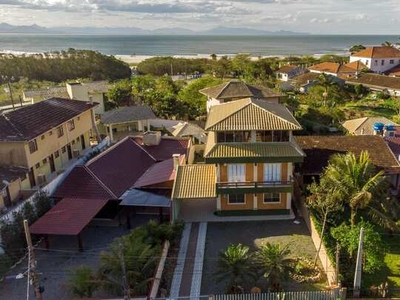
[[[147,105],[126,106],[107,111],[101,116],[103,132],[111,142],[123,139],[133,133],[149,131],[150,120],[156,116]]]

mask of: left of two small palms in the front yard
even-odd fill
[[[219,253],[218,281],[227,280],[228,290],[237,291],[242,285],[255,280],[255,269],[249,247],[242,244],[230,244],[228,248]]]

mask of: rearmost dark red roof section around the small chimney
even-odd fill
[[[189,154],[190,139],[189,138],[175,138],[175,137],[161,137],[159,145],[147,146],[143,145],[141,137],[131,137],[133,141],[138,143],[145,151],[147,151],[156,161],[163,161],[170,159],[173,154],[184,154],[186,157]]]

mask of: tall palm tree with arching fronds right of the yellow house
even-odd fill
[[[352,226],[356,224],[357,211],[366,209],[380,225],[397,229],[396,223],[383,209],[387,198],[377,197],[377,192],[384,187],[385,178],[383,171],[375,171],[368,152],[362,151],[358,158],[354,153],[333,155],[325,174],[340,189],[343,200],[350,207]]]

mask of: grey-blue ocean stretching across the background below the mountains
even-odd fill
[[[116,36],[0,34],[0,52],[36,53],[68,48],[97,50],[109,55],[235,55],[288,56],[346,54],[355,44],[397,42],[388,35],[293,36]]]

